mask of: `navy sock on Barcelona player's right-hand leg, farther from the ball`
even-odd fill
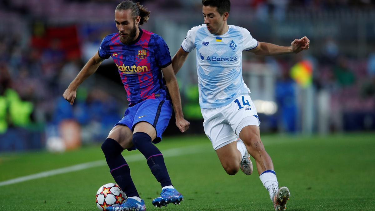
[[[151,143],[151,137],[147,133],[137,132],[133,134],[134,146],[147,159],[148,167],[150,167],[152,174],[156,180],[160,182],[162,187],[172,185],[169,178],[168,171],[164,163],[162,153]]]

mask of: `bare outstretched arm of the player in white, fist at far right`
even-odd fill
[[[310,40],[305,36],[301,39],[295,39],[289,47],[267,42],[258,42],[258,46],[249,51],[257,55],[270,56],[287,53],[299,53],[302,50],[308,50],[309,47]]]

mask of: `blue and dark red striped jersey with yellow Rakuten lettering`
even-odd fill
[[[120,35],[107,35],[99,48],[102,59],[112,57],[124,84],[129,107],[145,99],[169,100],[161,68],[172,63],[169,48],[163,38],[139,29],[138,38],[130,45],[120,41]]]

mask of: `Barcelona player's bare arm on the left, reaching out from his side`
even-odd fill
[[[104,59],[99,57],[96,53],[91,59],[86,63],[86,65],[78,73],[77,77],[69,84],[68,88],[63,93],[63,97],[70,102],[71,105],[74,103],[75,96],[77,95],[77,88],[81,83],[86,80],[90,75],[92,75],[103,62]]]

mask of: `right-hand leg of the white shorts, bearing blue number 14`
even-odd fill
[[[249,125],[254,125],[259,129],[260,120],[257,109],[249,95],[239,96],[227,105],[222,113],[237,136],[243,128]]]

